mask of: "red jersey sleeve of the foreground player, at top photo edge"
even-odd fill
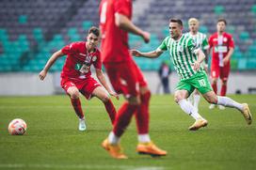
[[[114,8],[115,12],[129,17],[131,14],[132,4],[130,0],[116,0]]]

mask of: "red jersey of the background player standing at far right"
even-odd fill
[[[210,48],[213,47],[212,65],[223,67],[223,58],[226,57],[230,48],[234,48],[232,35],[224,32],[222,36],[218,36],[215,33],[209,38],[209,45]]]

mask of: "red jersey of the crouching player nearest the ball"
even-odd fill
[[[88,53],[86,42],[73,42],[61,49],[67,54],[65,65],[61,72],[62,78],[85,79],[91,75],[90,66],[102,70],[101,53],[98,49]]]

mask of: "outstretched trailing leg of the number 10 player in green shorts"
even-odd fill
[[[243,116],[245,117],[245,119],[248,122],[248,125],[251,124],[252,116],[250,114],[247,103],[239,103],[239,102],[232,100],[231,98],[228,98],[228,97],[216,96],[216,93],[214,91],[209,91],[207,93],[204,93],[204,94],[202,94],[202,96],[209,103],[214,103],[217,105],[223,105],[226,107],[236,108],[243,114]]]

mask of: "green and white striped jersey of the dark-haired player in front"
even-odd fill
[[[174,69],[178,72],[181,80],[189,79],[197,73],[191,66],[198,58],[195,54],[198,48],[193,39],[183,35],[180,39],[175,40],[168,36],[157,49],[169,51]],[[203,71],[202,67],[198,71]]]

